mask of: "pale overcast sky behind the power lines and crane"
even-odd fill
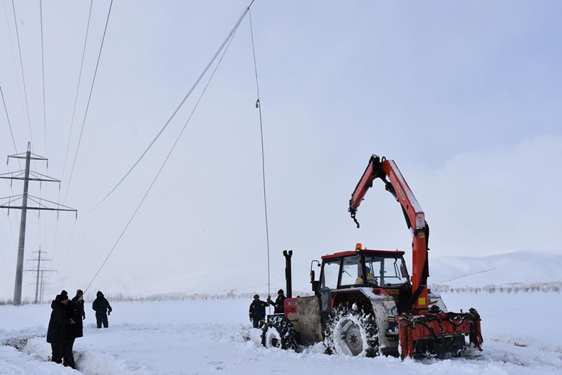
[[[93,4],[64,168],[89,1],[0,4],[0,85],[18,152],[63,180],[30,193],[72,213],[27,219],[25,259],[41,246],[58,270],[47,298],[84,289],[148,189],[202,86],[138,159],[249,1],[115,0],[84,119],[109,1]],[[296,289],[313,258],[353,249],[410,249],[398,204],[377,183],[348,199],[371,154],[394,159],[426,213],[431,257],[511,251],[560,254],[562,33],[558,1],[264,1],[251,7],[263,112],[272,289],[293,249]],[[202,83],[205,83],[204,79]],[[249,19],[150,195],[91,289],[105,293],[265,291],[268,279],[259,114]],[[1,103],[0,103],[1,105]],[[46,127],[46,133],[44,131]],[[31,129],[31,135],[30,135]],[[0,107],[0,157],[14,154]],[[11,160],[6,173],[18,170]],[[63,176],[63,170],[64,176]],[[70,187],[69,186],[70,183]],[[0,184],[0,195],[22,183]],[[0,298],[13,296],[19,212],[0,213]],[[74,232],[73,232],[74,228]],[[55,234],[56,233],[56,234]],[[72,235],[73,233],[73,235]],[[32,267],[33,262],[26,262]],[[430,263],[431,273],[431,263]],[[34,296],[34,275],[24,296]]]

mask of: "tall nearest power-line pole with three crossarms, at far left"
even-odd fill
[[[27,143],[27,152],[21,154],[8,155],[8,162],[10,158],[13,159],[25,159],[25,170],[18,172],[8,172],[0,175],[0,178],[6,178],[8,180],[23,180],[23,194],[16,195],[13,197],[7,197],[8,204],[0,204],[0,209],[8,209],[8,215],[10,214],[10,209],[20,209],[22,210],[21,221],[20,221],[20,241],[18,244],[18,262],[15,266],[15,285],[13,290],[13,304],[20,305],[22,302],[22,279],[23,279],[23,254],[25,251],[25,225],[27,221],[27,210],[47,210],[47,211],[73,211],[78,215],[77,209],[72,209],[70,207],[64,206],[63,204],[58,204],[55,202],[48,201],[46,199],[41,199],[28,194],[28,188],[30,181],[45,181],[45,182],[56,182],[59,183],[60,180],[45,176],[44,174],[30,171],[30,162],[32,160],[39,160],[48,163],[48,159],[41,157],[37,154],[31,152],[31,143]],[[48,166],[48,164],[47,164]],[[10,176],[8,176],[10,175]],[[30,177],[31,175],[31,177]],[[6,198],[3,198],[6,199]],[[21,199],[21,205],[12,205],[13,202],[17,202]],[[38,206],[27,206],[27,201],[30,199],[32,202],[38,204]],[[46,204],[42,204],[41,200],[48,202],[48,204],[56,205],[56,207],[49,207]]]

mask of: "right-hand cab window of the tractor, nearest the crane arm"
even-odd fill
[[[410,281],[404,259],[401,257],[386,258],[384,256],[366,255],[365,268],[368,284],[392,287]],[[372,281],[370,281],[371,277]]]

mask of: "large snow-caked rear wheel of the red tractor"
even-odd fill
[[[376,357],[379,329],[367,303],[342,303],[330,313],[325,330],[327,353]]]

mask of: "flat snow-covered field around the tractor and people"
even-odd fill
[[[74,357],[84,374],[562,374],[562,295],[443,294],[450,310],[474,306],[482,315],[483,352],[451,360],[325,355],[266,349],[250,328],[250,301],[112,303],[108,329],[96,329],[86,309],[84,337]],[[86,307],[91,301],[86,301]],[[50,305],[0,307],[0,342],[30,338],[21,351],[0,346],[0,374],[78,374],[46,362]],[[552,315],[552,316],[551,316]]]

